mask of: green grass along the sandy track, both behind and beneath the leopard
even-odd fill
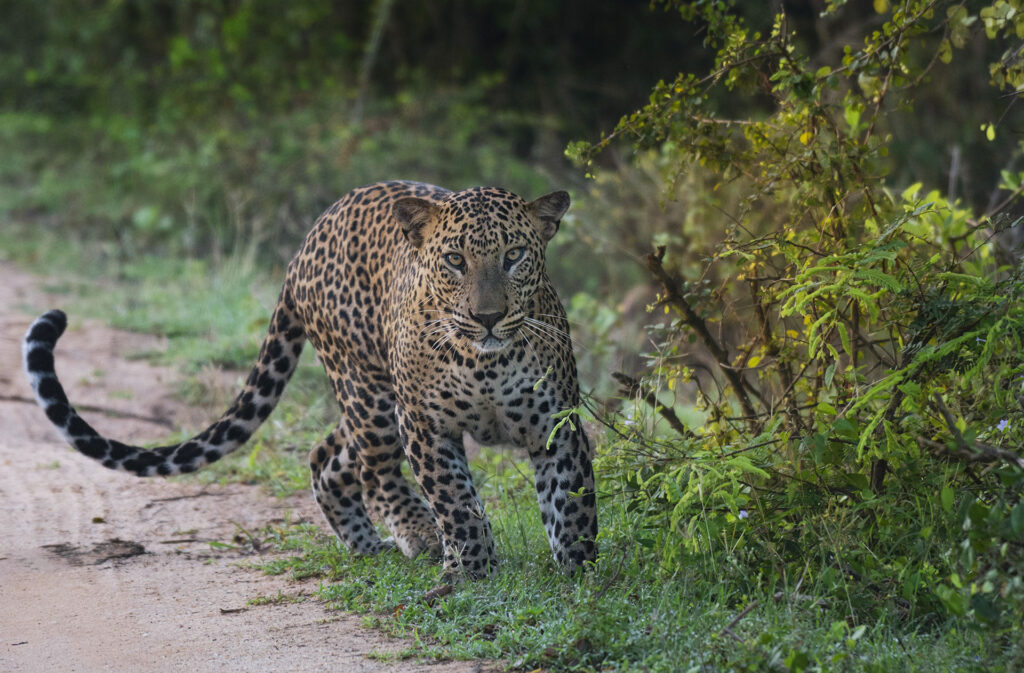
[[[66,294],[73,314],[168,333],[168,350],[146,356],[194,373],[209,363],[246,368],[254,359],[276,292],[271,276],[231,261],[136,256],[119,264],[109,248],[63,243],[0,234],[9,258],[50,269],[50,285]],[[202,385],[181,392],[212,407],[211,420],[227,403]],[[337,414],[307,349],[248,450],[184,478],[304,491],[306,453]],[[394,552],[354,557],[319,523],[254,532],[282,552],[264,570],[289,575],[303,590],[315,582],[313,595],[329,607],[361,613],[368,624],[410,638],[409,656],[495,658],[520,670],[980,672],[1021,664],[1013,631],[993,635],[968,620],[854,604],[850,597],[858,594],[838,590],[843,583],[823,559],[808,559],[805,575],[817,579],[807,581],[753,576],[743,558],[728,555],[693,555],[683,571],[667,573],[656,546],[673,544],[677,534],[645,530],[642,512],[631,510],[601,473],[602,555],[591,572],[566,577],[550,559],[528,465],[484,452],[473,470],[502,557],[488,581],[428,600],[438,581],[435,560]]]

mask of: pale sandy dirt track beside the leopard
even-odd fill
[[[51,307],[72,308],[57,371],[100,432],[159,440],[168,421],[196,429],[220,410],[184,408],[170,394],[173,371],[126,357],[160,339],[76,319],[67,298],[39,286],[0,262],[0,671],[502,670],[382,661],[408,643],[304,597],[315,585],[241,567],[251,549],[210,546],[286,516],[322,524],[308,494],[140,479],[68,448],[27,402],[20,367],[22,336]],[[279,592],[301,600],[247,605]]]

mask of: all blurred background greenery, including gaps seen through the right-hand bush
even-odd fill
[[[595,190],[563,150],[609,131],[658,80],[714,60],[699,25],[634,0],[4,4],[6,219],[116,239],[126,250],[206,256],[258,242],[268,262],[287,260],[348,188],[386,178],[524,196],[569,187],[598,202],[579,208],[591,233],[610,230],[644,251],[647,229],[664,228],[651,218],[667,217],[650,162],[638,168],[621,149],[605,160],[614,187]],[[801,49],[830,62],[883,22],[855,4],[824,16],[823,2],[738,11],[757,25],[784,9]],[[1017,161],[1015,143],[987,142],[978,130],[998,122],[1005,140],[1020,126],[1018,111],[978,76],[998,48],[975,35],[912,110],[891,103],[893,184],[948,185],[984,210],[999,171]],[[770,108],[757,96],[729,104],[723,112],[734,117]],[[575,278],[573,287],[626,289],[622,274]]]

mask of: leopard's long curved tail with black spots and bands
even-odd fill
[[[305,343],[305,332],[295,316],[294,304],[287,291],[283,292],[259,360],[230,408],[186,441],[144,449],[100,435],[68,402],[53,370],[53,347],[67,326],[63,311],[51,310],[36,320],[25,335],[22,356],[36,399],[71,446],[111,469],[139,476],[193,472],[245,444],[278,404]]]

